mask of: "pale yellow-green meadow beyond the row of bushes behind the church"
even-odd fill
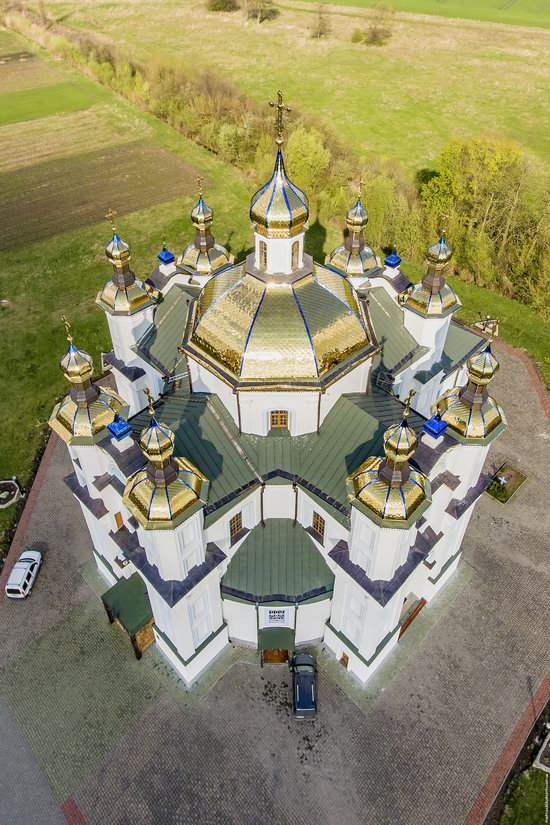
[[[291,105],[322,116],[360,156],[400,159],[416,172],[433,167],[453,137],[491,133],[550,165],[550,32],[543,29],[397,16],[390,42],[369,48],[350,42],[366,12],[349,6],[326,7],[331,32],[321,41],[310,37],[315,7],[292,0],[261,26],[245,24],[240,12],[201,7],[197,14],[195,0],[51,0],[48,8],[144,60],[166,57],[169,31],[174,60],[217,72],[262,103],[283,89]]]

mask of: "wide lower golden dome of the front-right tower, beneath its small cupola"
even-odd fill
[[[374,516],[376,522],[406,527],[411,516],[418,518],[419,508],[424,510],[430,503],[429,481],[422,473],[411,470],[403,484],[392,487],[380,478],[382,463],[381,458],[367,458],[350,476],[350,494],[367,508],[368,515]]]

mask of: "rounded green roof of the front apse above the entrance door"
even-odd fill
[[[249,601],[285,596],[294,601],[312,591],[332,591],[334,575],[313,539],[290,519],[268,519],[248,534],[230,561],[223,588]]]

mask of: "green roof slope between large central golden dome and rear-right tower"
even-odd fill
[[[427,350],[419,347],[403,323],[403,310],[390,298],[383,287],[369,291],[369,315],[381,347],[381,368],[393,372],[409,353],[414,353],[408,364],[418,360]]]

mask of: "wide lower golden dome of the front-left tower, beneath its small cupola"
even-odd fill
[[[155,484],[147,468],[126,482],[123,502],[146,530],[172,530],[190,514],[193,505],[206,503],[206,477],[185,458],[173,458],[172,463],[177,474],[169,484]]]

